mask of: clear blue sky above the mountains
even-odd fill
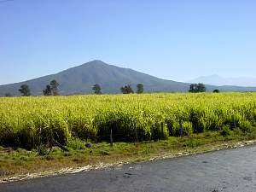
[[[0,84],[91,60],[162,79],[256,77],[255,0],[0,1]]]

